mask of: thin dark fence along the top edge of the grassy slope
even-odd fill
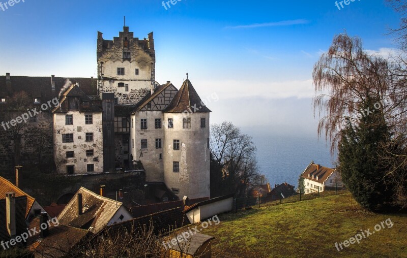
[[[311,190],[310,193],[304,193],[304,189],[299,192],[296,191],[278,191],[270,193],[267,196],[258,195],[257,197],[243,197],[233,199],[233,210],[237,212],[240,209],[250,207],[262,207],[268,205],[278,205],[282,203],[300,202],[312,200],[319,197],[337,195],[344,191],[344,187],[325,187],[325,190],[319,192],[318,190]]]

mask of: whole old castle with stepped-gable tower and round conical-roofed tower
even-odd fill
[[[188,74],[180,89],[169,81],[159,84],[153,33],[140,40],[127,26],[113,40],[98,32],[97,63],[97,79],[51,76],[47,83],[46,77],[1,76],[0,105],[17,90],[26,91],[33,106],[59,99],[25,129],[41,126],[52,136],[44,149],[52,148],[57,173],[114,173],[141,163],[147,182],[165,183],[178,198],[209,197],[211,111]],[[28,144],[23,138],[21,146]],[[10,151],[12,144],[0,146],[9,159]],[[30,151],[36,152],[21,152],[22,163]],[[39,160],[49,159],[49,151],[41,155]]]

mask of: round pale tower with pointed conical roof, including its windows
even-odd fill
[[[209,110],[187,79],[163,111],[164,182],[182,199],[210,197]]]

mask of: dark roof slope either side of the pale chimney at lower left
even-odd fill
[[[6,196],[5,196],[6,197]],[[27,196],[16,196],[16,235],[26,232],[25,210],[27,205]],[[7,241],[10,235],[7,232],[6,223],[6,199],[0,200],[0,241]]]

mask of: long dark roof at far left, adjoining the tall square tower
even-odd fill
[[[0,95],[12,95],[15,92],[25,91],[33,98],[40,97],[42,102],[50,101],[57,96],[61,88],[65,85],[67,78],[54,77],[55,90],[51,89],[51,77],[29,77],[29,76],[10,76],[11,92],[7,92],[6,76],[0,76]],[[97,94],[97,79],[93,78],[69,78],[75,84],[79,83],[85,94]]]

